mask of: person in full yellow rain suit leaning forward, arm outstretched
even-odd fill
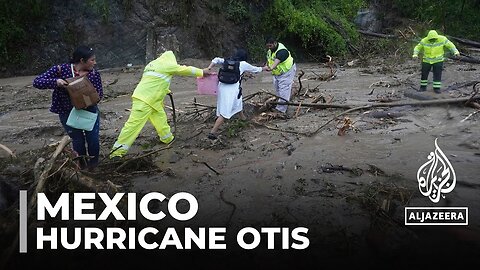
[[[123,157],[128,152],[147,120],[155,127],[161,142],[173,141],[163,109],[163,100],[170,93],[170,81],[173,75],[203,77],[204,74],[210,74],[210,71],[177,64],[172,51],[166,51],[148,63],[133,92],[130,117],[112,147],[110,159]]]

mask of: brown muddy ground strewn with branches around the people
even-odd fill
[[[181,62],[208,65],[206,60]],[[427,93],[419,94],[414,90],[420,78],[416,61],[395,64],[375,60],[367,66],[360,61],[352,63],[337,63],[335,77],[329,80],[320,80],[330,72],[325,64],[298,63],[297,78],[300,71],[305,74],[299,92],[299,81],[295,81],[298,94],[294,101],[312,103],[322,95],[326,102],[361,106],[379,100],[468,97],[472,86],[462,85],[480,79],[478,65],[448,60],[443,73],[444,93],[434,94],[430,86]],[[105,93],[99,105],[101,154],[106,157],[128,118],[130,95],[141,69],[118,68],[101,74]],[[48,110],[51,91],[33,88],[33,78],[0,79],[0,142],[17,156],[30,153],[34,163],[46,152],[42,149],[64,133],[57,116]],[[248,78],[243,83],[244,97],[272,92],[271,81],[269,73]],[[171,90],[178,110],[176,140],[170,149],[148,156],[155,167],[140,164],[105,174],[102,168],[119,166],[105,158],[100,169],[86,174],[99,181],[109,179],[121,185],[123,192],[157,191],[171,196],[185,191],[197,198],[200,208],[193,220],[165,224],[220,226],[232,231],[247,226],[309,228],[310,247],[305,251],[266,252],[268,260],[258,255],[261,252],[254,252],[246,255],[248,260],[237,263],[280,267],[300,265],[300,261],[319,265],[332,259],[339,265],[363,260],[371,265],[400,267],[412,265],[409,259],[419,254],[478,255],[480,114],[468,117],[475,109],[461,104],[370,108],[326,124],[346,109],[290,106],[288,119],[271,119],[254,110],[267,97],[261,95],[246,101],[246,122],[228,121],[220,139],[211,141],[206,135],[213,125],[213,110],[195,113],[204,107],[193,104],[214,106],[215,97],[197,95],[195,79],[188,77],[175,77]],[[166,104],[171,105],[170,101]],[[171,117],[172,111],[167,111]],[[338,127],[345,116],[355,129],[339,136]],[[304,134],[324,124],[313,136]],[[457,185],[445,199],[433,204],[418,190],[417,170],[435,149],[436,138],[456,172]],[[147,124],[127,158],[163,147]],[[2,181],[14,189],[28,187],[22,175],[31,171],[33,163],[12,162],[3,150],[0,156]],[[405,226],[405,206],[466,206],[469,224]],[[235,256],[219,254],[221,258]]]

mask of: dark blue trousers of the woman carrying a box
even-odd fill
[[[93,168],[97,166],[100,156],[100,114],[97,117],[97,122],[95,122],[92,131],[67,126],[68,115],[69,114],[59,114],[58,116],[63,128],[72,139],[73,150],[77,152],[79,156],[87,156],[88,149],[88,156],[91,157],[87,160],[80,158],[80,167],[84,169],[86,167]],[[85,145],[87,147],[85,147]]]

